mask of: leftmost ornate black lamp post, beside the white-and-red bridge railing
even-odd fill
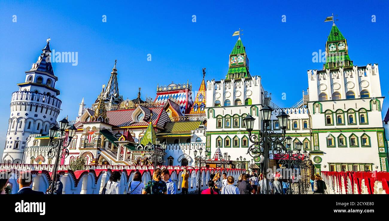
[[[63,118],[60,121],[59,128],[56,125],[49,128],[49,146],[51,148],[49,152],[47,152],[47,156],[49,158],[56,158],[54,162],[53,174],[51,175],[51,186],[49,186],[48,188],[48,194],[54,194],[54,186],[57,182],[58,161],[60,160],[60,154],[61,158],[66,158],[69,155],[69,150],[67,149],[67,147],[70,145],[72,138],[74,137],[74,134],[77,131],[77,128],[75,128],[74,125],[68,127],[68,124],[68,120],[66,120],[66,118]],[[66,129],[68,129],[68,136],[63,137],[63,134]],[[61,135],[56,141],[53,141],[58,131],[61,132]]]

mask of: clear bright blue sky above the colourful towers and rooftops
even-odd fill
[[[331,22],[323,21],[331,13],[339,15],[336,24],[347,38],[354,64],[379,64],[382,95],[387,95],[388,8],[387,1],[2,1],[0,143],[7,131],[11,93],[24,82],[24,72],[48,37],[51,49],[78,52],[77,66],[53,64],[63,102],[58,120],[66,115],[74,119],[82,97],[87,106],[95,101],[115,59],[124,99],[134,99],[138,87],[143,99],[146,94],[154,98],[157,84],[172,81],[189,80],[197,90],[203,67],[206,79],[224,78],[237,41],[231,35],[239,28],[244,30],[251,75],[262,77],[274,103],[289,107],[307,90],[307,70],[322,69],[322,63],[312,62],[312,53],[324,51]],[[281,99],[283,92],[286,100]],[[385,100],[383,111],[387,108]]]

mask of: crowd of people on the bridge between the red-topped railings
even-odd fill
[[[0,173],[0,194],[11,194],[12,183],[9,183],[8,172]],[[190,177],[189,171],[184,169],[182,172],[181,190],[182,194],[188,194]],[[122,194],[120,183],[121,173],[114,171],[104,185],[100,194]],[[44,194],[41,191],[34,191],[30,188],[32,183],[32,174],[29,171],[19,174],[17,183],[19,191],[16,194]],[[268,183],[268,184],[267,184]],[[319,174],[312,175],[310,178],[311,188],[315,194],[324,194],[327,187]],[[252,172],[252,174],[241,174],[236,181],[233,176],[227,176],[226,173],[221,174],[214,171],[210,174],[208,188],[203,190],[201,194],[288,194],[291,188],[291,183],[287,179],[282,179],[279,172],[271,174],[269,182],[266,176]],[[269,188],[269,190],[267,190]],[[54,185],[54,193],[62,194],[63,184],[60,181],[60,175],[57,174],[56,183]],[[146,184],[142,181],[142,174],[135,172],[133,180],[128,185],[127,194],[176,194],[177,185],[170,178],[168,169],[155,169],[152,174],[152,180]]]

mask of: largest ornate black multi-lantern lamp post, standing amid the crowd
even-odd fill
[[[272,111],[273,109],[269,106],[264,106],[261,110],[261,116],[262,116],[262,128],[263,130],[259,130],[258,134],[251,134],[253,128],[254,128],[254,121],[255,118],[253,118],[251,115],[247,115],[243,120],[245,122],[246,131],[249,132],[249,139],[251,141],[251,146],[247,150],[247,154],[249,154],[251,157],[259,157],[263,156],[265,158],[264,160],[264,175],[265,171],[267,171],[269,167],[269,150],[270,147],[273,146],[272,150],[273,153],[282,153],[282,151],[286,151],[286,148],[283,144],[285,140],[285,134],[286,134],[286,125],[288,122],[288,117],[284,111],[281,111],[279,115],[277,115],[277,119],[280,125],[280,128],[282,130],[281,133],[275,133],[274,131],[271,131],[267,129],[271,117],[272,117]],[[270,136],[272,134],[272,136]],[[270,171],[269,171],[270,172]],[[262,181],[263,182],[263,181]],[[264,183],[263,183],[264,185]],[[264,188],[262,189],[262,193],[264,193]],[[266,194],[269,193],[269,179],[266,179]]]

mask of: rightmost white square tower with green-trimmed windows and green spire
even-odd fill
[[[378,64],[355,66],[333,24],[323,70],[308,70],[315,172],[387,171]]]

